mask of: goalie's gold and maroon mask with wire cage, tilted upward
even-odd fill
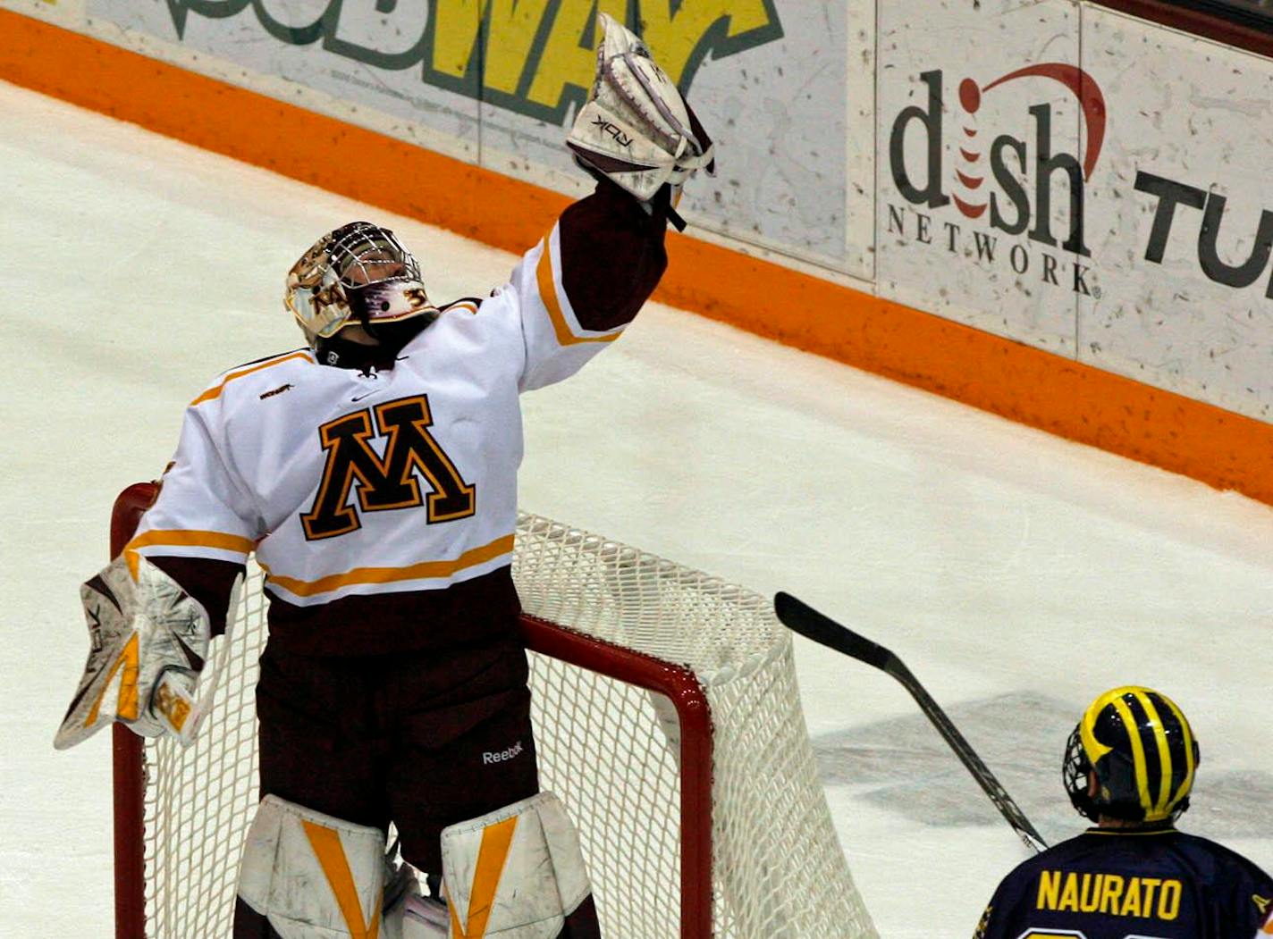
[[[428,326],[438,316],[415,257],[369,221],[320,238],[288,271],[285,303],[313,346],[350,324],[378,338],[391,323],[426,317]]]

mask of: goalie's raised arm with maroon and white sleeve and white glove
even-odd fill
[[[566,207],[509,282],[521,391],[568,378],[619,338],[667,268],[667,223],[685,228],[681,187],[712,170],[707,131],[645,45],[605,14],[597,24],[596,79],[566,137],[596,191]],[[496,314],[482,309],[488,322]]]

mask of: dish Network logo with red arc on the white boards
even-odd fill
[[[1062,85],[1074,95],[1082,115],[1086,145],[1081,154],[1057,151],[1053,145],[1053,109],[1050,104],[1027,108],[1034,132],[1029,137],[995,134],[979,126],[978,115],[984,101],[998,89],[1022,80],[1045,80]],[[939,70],[920,74],[919,80],[928,89],[927,103],[903,108],[892,122],[889,135],[889,168],[899,195],[910,204],[915,215],[913,238],[920,243],[933,243],[932,216],[914,206],[957,214],[957,220],[942,221],[945,243],[952,253],[969,239],[965,229],[973,229],[969,256],[975,249],[976,258],[997,263],[998,237],[987,228],[1007,235],[1026,235],[1030,242],[1059,247],[1078,257],[1091,257],[1083,238],[1085,186],[1092,176],[1105,141],[1105,95],[1087,73],[1063,62],[1041,62],[1001,75],[985,85],[970,78],[959,84],[959,126],[946,127],[946,101],[943,76]],[[947,176],[946,135],[956,136],[959,153],[953,174]],[[922,135],[924,159],[918,165],[906,162],[908,135]],[[913,150],[914,153],[914,150]],[[1068,212],[1060,230],[1053,230],[1053,204],[1058,181],[1068,190]],[[904,206],[889,206],[889,230],[906,234]],[[980,228],[974,228],[974,225]],[[1035,265],[1040,279],[1054,286],[1060,285],[1057,254],[1039,252]],[[1017,274],[1025,274],[1036,257],[1027,244],[1015,243],[1007,251],[1007,261]],[[1077,260],[1068,261],[1071,276],[1066,282],[1076,293],[1091,295],[1085,280],[1090,267]]]

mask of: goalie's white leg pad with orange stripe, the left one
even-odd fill
[[[377,939],[384,832],[266,795],[247,835],[238,896],[281,939]]]

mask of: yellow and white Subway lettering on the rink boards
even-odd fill
[[[774,0],[165,3],[178,38],[191,15],[219,20],[251,8],[253,28],[279,42],[318,43],[332,55],[381,70],[419,70],[424,84],[556,125],[584,102],[592,85],[598,9],[636,32],[682,92],[708,56],[723,59],[783,36]],[[373,75],[353,79],[378,88]]]

